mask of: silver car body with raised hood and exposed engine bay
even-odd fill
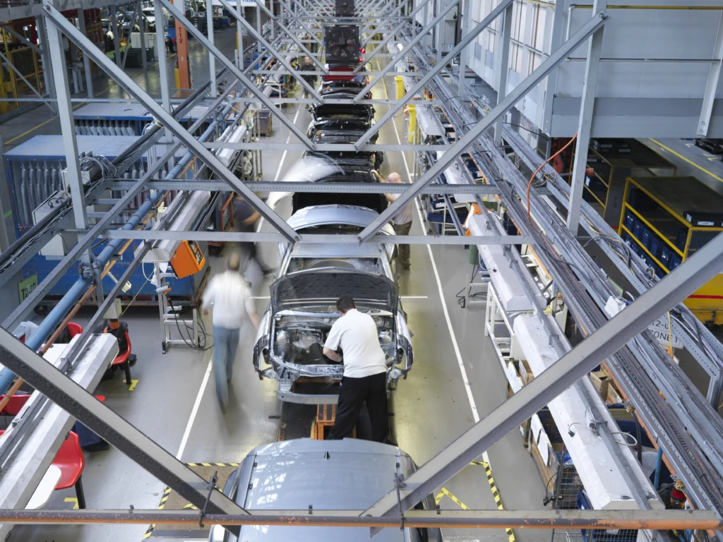
[[[348,205],[305,207],[288,220],[301,233],[358,233],[377,212]],[[390,225],[382,234],[393,235]],[[271,285],[269,309],[254,343],[254,369],[279,382],[278,399],[290,403],[334,404],[337,393],[292,391],[298,379],[341,382],[343,365],[322,356],[328,330],[340,317],[338,296],[354,297],[370,314],[387,356],[388,384],[406,377],[414,355],[411,332],[394,280],[393,244],[301,244],[279,246],[278,279]]]

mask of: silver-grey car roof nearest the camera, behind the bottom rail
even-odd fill
[[[327,457],[328,452],[328,457]],[[258,509],[366,509],[393,489],[397,457],[405,452],[389,444],[358,439],[275,442],[249,453],[252,470],[247,492],[236,502]],[[411,465],[411,460],[401,461]],[[244,465],[245,466],[245,465]],[[409,476],[410,472],[403,472]],[[239,486],[240,487],[240,486]],[[243,542],[356,542],[371,540],[366,528],[294,528],[249,526]],[[384,529],[375,541],[403,540],[398,529]]]

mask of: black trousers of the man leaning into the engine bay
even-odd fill
[[[336,405],[336,418],[329,440],[351,436],[364,401],[367,402],[369,420],[372,422],[372,440],[385,442],[389,434],[386,371],[370,377],[341,379],[339,403]]]

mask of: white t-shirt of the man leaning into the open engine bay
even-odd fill
[[[369,314],[351,309],[334,322],[324,346],[336,350],[340,345],[345,377],[370,377],[387,371],[387,357],[379,344],[377,324]]]

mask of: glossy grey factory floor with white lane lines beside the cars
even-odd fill
[[[226,41],[226,49],[222,49],[226,51],[231,50],[229,40],[233,39],[233,32],[228,30],[216,38],[217,43]],[[192,43],[192,55],[196,55],[195,61],[194,56],[191,57],[194,74],[203,79],[201,74],[207,70],[203,65],[205,55],[199,49]],[[152,80],[147,73],[136,74],[134,78]],[[97,82],[98,86],[106,84],[106,81]],[[111,87],[108,85],[106,95],[117,95],[118,90]],[[388,93],[393,93],[391,82],[387,88],[383,85],[375,88],[377,98],[386,98]],[[301,129],[309,123],[309,113],[303,107],[290,106],[283,111]],[[42,110],[34,113],[36,119],[47,116]],[[4,140],[17,145],[34,134],[59,132],[57,122],[48,121],[17,138],[20,130],[27,129],[33,121],[35,119],[27,118],[12,127],[4,126],[4,131],[16,132],[4,135]],[[274,122],[274,126],[275,132],[269,141],[291,141],[281,123]],[[382,128],[380,142],[396,143],[405,134],[404,117],[400,116]],[[17,139],[12,141],[13,138]],[[301,152],[266,152],[263,155],[265,179],[283,179],[300,156]],[[411,170],[411,155],[386,153],[382,174],[398,171],[409,181],[408,169]],[[278,200],[275,207],[284,218],[288,217],[290,199]],[[413,234],[422,233],[420,217],[415,215]],[[268,223],[263,223],[261,230],[271,231]],[[275,263],[275,245],[262,246],[261,253],[265,262]],[[507,381],[492,343],[482,335],[484,305],[462,309],[455,297],[464,287],[466,273],[471,271],[466,251],[460,246],[412,246],[411,262],[412,270],[403,273],[400,285],[409,327],[414,332],[415,364],[408,379],[399,382],[393,392],[390,421],[395,442],[416,463],[422,464],[500,405],[505,400]],[[214,272],[218,271],[223,268],[223,260],[212,258],[210,265]],[[9,289],[9,298],[17,296],[17,289],[13,288],[12,285],[5,288]],[[265,311],[268,300],[259,298],[256,302],[260,313]],[[83,311],[74,321],[84,324],[90,314],[92,311]],[[129,326],[133,351],[138,356],[137,365],[132,369],[132,377],[138,382],[132,391],[119,375],[113,381],[100,384],[97,392],[106,395],[108,406],[187,463],[236,463],[250,449],[275,441],[278,433],[275,416],[280,412],[275,399],[276,384],[269,380],[260,382],[252,371],[250,325],[241,338],[231,384],[231,406],[224,415],[215,395],[210,350],[199,352],[173,345],[163,355],[161,325],[155,309],[130,309],[124,320]],[[489,450],[489,463],[504,507],[542,507],[545,488],[517,430]],[[161,502],[166,487],[116,449],[87,454],[82,480],[89,509],[127,509],[130,505],[136,509],[153,509]],[[444,487],[448,494],[440,499],[442,509],[459,509],[461,505],[457,502],[471,509],[497,507],[482,466],[470,465]],[[72,508],[73,497],[72,490],[56,491],[48,508]],[[136,542],[145,535],[147,525],[18,526],[11,539]],[[546,541],[549,535],[549,531],[515,532],[515,538],[523,542]],[[148,538],[192,539],[173,536],[159,528]],[[445,537],[450,540],[508,539],[501,529],[483,533],[449,530],[445,531]]]

